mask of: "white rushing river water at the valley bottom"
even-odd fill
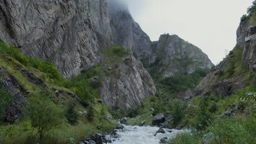
[[[188,130],[176,130],[176,129],[164,129],[165,134],[158,133],[155,135],[156,131],[159,130],[158,127],[138,127],[138,126],[129,126],[124,125],[126,131],[118,130],[117,134],[118,138],[113,139],[113,144],[157,144],[160,143],[160,140],[163,137],[168,137],[168,139],[172,139],[178,133],[184,133]],[[171,132],[171,133],[170,133]]]

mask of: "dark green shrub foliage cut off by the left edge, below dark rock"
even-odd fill
[[[5,90],[2,83],[0,83],[0,123],[4,120],[4,113],[7,106],[11,103],[13,97]]]

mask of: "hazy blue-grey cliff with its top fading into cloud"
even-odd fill
[[[115,44],[123,46],[139,59],[151,55],[150,38],[133,20],[125,4],[118,0],[110,0],[109,16]]]

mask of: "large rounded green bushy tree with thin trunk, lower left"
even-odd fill
[[[34,97],[27,105],[27,116],[42,140],[43,135],[63,122],[63,113],[53,101],[45,97]]]

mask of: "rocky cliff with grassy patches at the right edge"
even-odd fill
[[[237,29],[237,45],[195,89],[195,95],[230,95],[251,85],[256,72],[255,12],[241,18]]]

